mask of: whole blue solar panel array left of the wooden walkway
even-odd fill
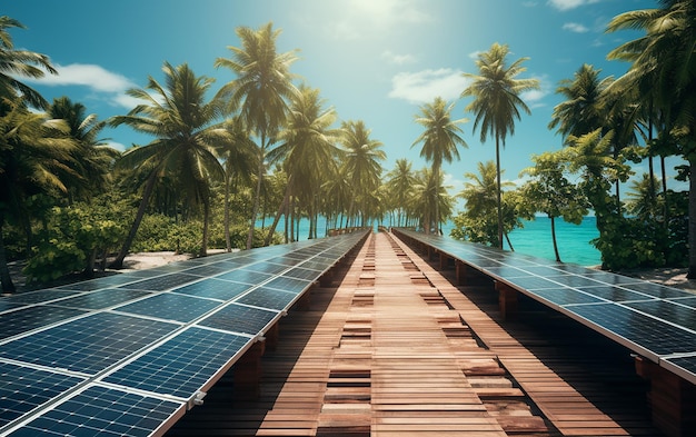
[[[0,435],[165,431],[366,236],[0,298]]]

